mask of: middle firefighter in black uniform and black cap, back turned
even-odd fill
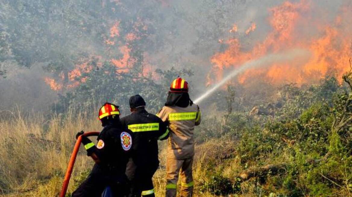
[[[152,177],[159,167],[158,139],[168,138],[169,131],[159,117],[145,110],[142,96],[131,96],[130,111],[130,115],[121,118],[122,126],[133,132],[132,158],[126,169],[131,181],[130,196],[154,197]]]

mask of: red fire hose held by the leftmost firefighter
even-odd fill
[[[98,131],[91,131],[91,132],[84,132],[83,135],[87,136],[87,137],[89,137],[89,136],[98,136],[99,133],[100,132],[98,132]],[[71,173],[72,173],[72,170],[73,170],[73,166],[75,165],[77,153],[78,153],[78,150],[80,149],[81,142],[82,142],[82,136],[79,136],[77,141],[76,141],[75,148],[73,149],[70,161],[68,163],[68,167],[67,167],[67,171],[66,171],[66,174],[65,174],[64,182],[62,184],[60,197],[65,197],[65,195],[66,195],[68,183],[70,182]]]

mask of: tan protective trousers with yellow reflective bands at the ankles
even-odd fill
[[[193,195],[193,158],[166,160],[166,197],[176,197],[178,174],[181,171],[181,197]]]

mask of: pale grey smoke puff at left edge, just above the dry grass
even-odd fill
[[[47,73],[39,65],[31,68],[11,66],[7,78],[0,78],[0,110],[10,110],[15,114],[21,111],[23,115],[38,111],[47,113],[52,102],[57,99],[57,93],[43,81]],[[9,115],[1,112],[0,117]]]

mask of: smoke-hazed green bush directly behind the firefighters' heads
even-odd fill
[[[140,65],[142,67],[142,65]],[[119,73],[116,67],[109,62],[105,62],[101,68],[94,69],[89,73],[82,74],[76,80],[86,79],[80,83],[73,91],[65,96],[61,96],[60,101],[55,104],[54,110],[62,113],[69,109],[94,109],[104,102],[117,103],[121,108],[129,109],[128,99],[134,94],[140,94],[147,103],[147,109],[151,113],[159,110],[167,96],[168,86],[158,84],[151,75],[143,74],[143,68],[133,67],[128,73]],[[157,70],[162,81],[182,76],[192,75],[187,69]]]

